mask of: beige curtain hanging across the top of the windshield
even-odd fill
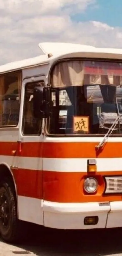
[[[58,63],[53,70],[51,84],[53,87],[67,87],[71,85],[122,85],[122,76],[116,73],[115,70],[108,71],[109,64],[98,62],[95,66],[87,61],[65,61]],[[105,70],[105,71],[104,71]]]

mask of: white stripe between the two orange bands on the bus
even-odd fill
[[[90,158],[89,158],[90,159]],[[95,158],[97,171],[122,171],[122,158]],[[9,167],[42,170],[42,158],[0,156],[0,164]],[[44,171],[87,172],[87,158],[43,158]]]

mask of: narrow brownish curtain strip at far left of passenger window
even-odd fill
[[[5,94],[5,87],[4,87],[4,76],[0,77],[0,126],[2,125],[2,114],[4,110],[3,106],[3,99],[4,99],[4,94]]]

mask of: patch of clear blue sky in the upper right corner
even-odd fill
[[[98,0],[84,12],[72,16],[75,21],[96,20],[110,26],[122,27],[122,0]]]

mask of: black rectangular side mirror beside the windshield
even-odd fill
[[[35,117],[48,117],[51,101],[50,87],[35,87],[33,96],[33,108]]]

